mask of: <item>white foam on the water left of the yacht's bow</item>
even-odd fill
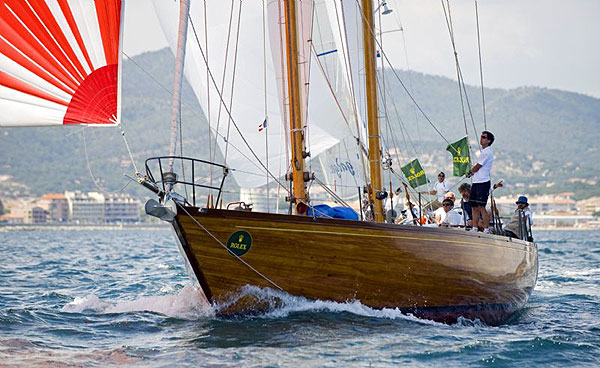
[[[136,300],[128,300],[111,304],[96,295],[77,297],[62,307],[61,311],[81,313],[129,313],[154,312],[169,317],[194,319],[214,315],[214,309],[206,300],[204,293],[193,286],[186,286],[174,295],[147,296]]]

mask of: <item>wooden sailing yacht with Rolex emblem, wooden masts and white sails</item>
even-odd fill
[[[264,307],[243,292],[247,286],[448,323],[464,317],[497,325],[525,305],[537,278],[534,243],[384,223],[376,79],[383,50],[372,0],[192,2],[187,10],[183,3],[154,2],[226,164],[151,158],[143,182],[161,199],[148,212],[171,222],[191,273],[219,312]],[[166,169],[169,160],[182,162],[179,173]],[[340,203],[364,195],[360,220],[319,212],[308,190],[319,181],[310,171],[317,161],[329,184],[339,175],[339,188],[329,190]],[[194,178],[197,165],[219,175]],[[231,176],[242,188],[286,191],[289,211],[223,205],[223,181]],[[212,191],[216,200],[209,194],[198,204],[198,192],[184,196],[182,187]]]

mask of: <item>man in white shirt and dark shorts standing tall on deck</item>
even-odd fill
[[[467,173],[467,177],[473,177],[473,186],[471,187],[471,195],[469,204],[473,207],[473,219],[478,219],[481,216],[483,232],[489,233],[490,216],[485,210],[488,197],[490,195],[492,164],[494,163],[494,154],[491,145],[494,143],[494,135],[487,130],[481,133],[479,139],[481,144],[481,154],[477,159],[477,164]],[[475,225],[475,224],[474,224]],[[477,227],[473,226],[471,231],[477,231]]]

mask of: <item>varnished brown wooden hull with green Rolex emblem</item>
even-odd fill
[[[227,312],[236,311],[228,303],[245,285],[275,288],[268,278],[285,292],[310,299],[358,300],[440,322],[463,316],[498,325],[525,305],[537,280],[536,245],[500,236],[185,210],[191,216],[180,210],[173,223],[185,256],[208,300],[227,305]],[[239,231],[251,236],[240,258],[266,278],[227,250],[230,236]],[[239,304],[237,311],[248,308]]]

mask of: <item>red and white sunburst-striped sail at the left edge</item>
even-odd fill
[[[0,126],[120,121],[123,0],[0,0]]]

